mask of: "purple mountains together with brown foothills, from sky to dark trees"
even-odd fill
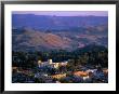
[[[89,44],[108,46],[107,16],[12,15],[13,50],[76,50]]]

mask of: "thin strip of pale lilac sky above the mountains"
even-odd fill
[[[108,16],[107,11],[13,11],[13,14],[35,14],[55,16]]]

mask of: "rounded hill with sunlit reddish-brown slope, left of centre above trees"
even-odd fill
[[[25,30],[22,33],[13,33],[13,50],[49,50],[69,49],[70,39],[63,39],[53,33]]]

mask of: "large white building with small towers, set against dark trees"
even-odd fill
[[[52,68],[58,68],[60,66],[66,66],[67,63],[68,62],[53,63],[52,59],[48,59],[48,62],[38,61],[38,66],[39,67],[49,66],[49,67],[52,67]]]

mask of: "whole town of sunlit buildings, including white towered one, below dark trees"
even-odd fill
[[[80,66],[75,70],[67,69],[69,61],[53,63],[38,61],[36,69],[12,67],[14,83],[107,83],[108,69],[101,65],[95,67]]]

